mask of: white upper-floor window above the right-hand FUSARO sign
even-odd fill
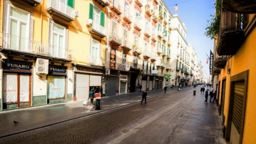
[[[66,28],[56,23],[51,23],[51,55],[66,58]]]

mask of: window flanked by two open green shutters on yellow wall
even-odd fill
[[[96,27],[100,27],[105,25],[105,14],[94,7],[90,3],[90,8],[89,8],[89,18],[93,20],[93,25],[97,25]]]

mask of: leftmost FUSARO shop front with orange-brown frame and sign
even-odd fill
[[[31,74],[28,61],[2,60],[3,110],[31,106]]]

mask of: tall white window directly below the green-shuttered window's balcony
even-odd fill
[[[92,39],[92,46],[91,46],[91,61],[95,65],[100,65],[100,41]]]

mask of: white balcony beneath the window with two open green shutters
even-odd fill
[[[95,35],[104,38],[107,36],[107,29],[100,24],[97,24],[97,22],[93,21],[92,25],[89,25],[88,31],[90,33],[94,33]]]

